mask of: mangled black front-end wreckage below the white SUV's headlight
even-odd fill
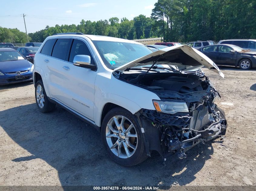
[[[208,114],[206,115],[208,117]],[[203,123],[204,117],[198,117],[199,122],[194,122],[195,119],[188,113],[174,115],[145,109],[136,113],[136,116],[148,156],[152,150],[156,150],[164,158],[173,154],[177,154],[179,158],[186,158],[185,151],[218,135],[224,135],[228,126],[224,111],[215,104],[214,122],[208,118],[208,122]],[[197,128],[197,123],[203,126]]]

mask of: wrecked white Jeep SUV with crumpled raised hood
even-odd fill
[[[187,45],[152,52],[125,39],[57,34],[35,55],[36,103],[43,113],[58,104],[90,123],[118,164],[139,164],[153,150],[186,158],[185,151],[227,127],[209,78],[182,73],[202,66],[224,77]]]

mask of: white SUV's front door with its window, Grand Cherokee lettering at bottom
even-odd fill
[[[71,109],[93,120],[95,78],[97,72],[73,65],[76,55],[88,55],[91,57],[91,63],[95,64],[91,51],[84,40],[72,40],[70,54],[67,62],[63,65],[64,82],[68,87],[68,100],[66,104]]]

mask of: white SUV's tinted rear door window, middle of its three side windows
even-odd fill
[[[58,39],[52,50],[52,57],[65,60],[70,39]]]

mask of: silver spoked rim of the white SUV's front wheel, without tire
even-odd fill
[[[131,157],[138,145],[136,129],[125,116],[114,116],[109,120],[106,140],[110,150],[119,158]]]

